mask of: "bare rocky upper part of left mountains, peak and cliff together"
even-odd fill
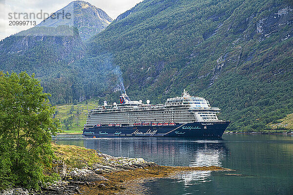
[[[58,52],[61,52],[59,59],[63,59],[73,48],[83,47],[83,41],[100,33],[111,22],[103,10],[85,1],[73,1],[37,26],[2,40],[0,54],[6,57],[7,54],[23,54],[46,44],[63,47],[63,51]]]

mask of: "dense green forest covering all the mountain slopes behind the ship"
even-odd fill
[[[65,53],[48,40],[20,54],[4,39],[0,68],[35,72],[54,104],[113,102],[124,89],[163,103],[187,89],[220,107],[230,130],[293,113],[290,0],[144,0],[85,42],[74,32]]]

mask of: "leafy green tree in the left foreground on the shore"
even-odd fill
[[[0,188],[39,188],[54,152],[60,124],[40,81],[25,73],[0,73]]]

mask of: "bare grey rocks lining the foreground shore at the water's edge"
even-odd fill
[[[42,187],[38,192],[14,188],[2,192],[1,195],[76,195],[80,194],[81,185],[95,185],[96,181],[108,180],[102,176],[105,173],[157,166],[154,162],[147,162],[143,158],[113,157],[101,153],[97,156],[102,158],[102,162],[91,166],[85,165],[81,169],[67,168],[62,160],[54,161],[53,164],[56,164],[54,171],[60,175],[61,180],[48,187]]]

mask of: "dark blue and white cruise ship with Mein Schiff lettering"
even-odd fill
[[[83,135],[87,137],[222,137],[230,121],[219,120],[219,108],[205,98],[168,98],[165,104],[130,100],[126,92],[119,102],[89,110]]]

